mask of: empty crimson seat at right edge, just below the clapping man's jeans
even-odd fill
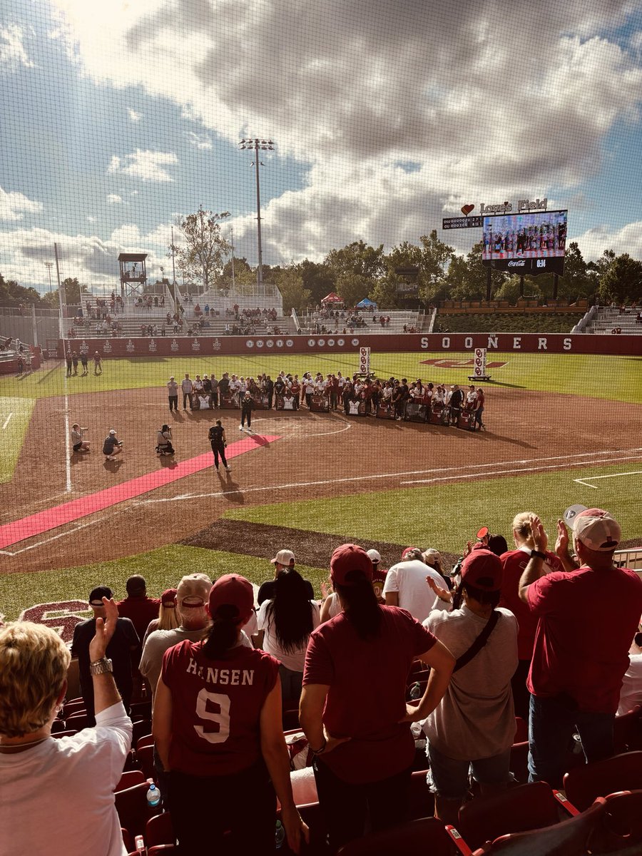
[[[625,752],[582,764],[564,776],[564,791],[578,811],[585,811],[597,797],[642,788],[642,752]]]

